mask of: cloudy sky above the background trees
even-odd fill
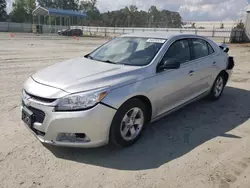
[[[11,1],[7,0],[8,11]],[[151,5],[158,9],[178,11],[183,20],[238,20],[245,12],[250,0],[97,0],[101,12],[117,10],[135,4],[139,9],[148,10]]]

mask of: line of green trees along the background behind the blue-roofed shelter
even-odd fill
[[[97,0],[37,0],[37,2],[42,7],[86,12],[88,15],[84,23],[86,25],[173,28],[182,26],[182,18],[178,12],[160,11],[156,6],[151,6],[148,12],[138,10],[135,5],[130,5],[120,10],[100,13],[96,6]],[[35,4],[35,0],[16,0],[13,3],[13,11],[10,14],[12,21],[30,22]],[[76,19],[74,20],[76,21]],[[54,22],[53,19],[52,22]]]

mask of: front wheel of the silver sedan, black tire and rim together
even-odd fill
[[[141,137],[147,120],[147,108],[142,101],[130,99],[125,102],[111,123],[110,144],[119,147],[133,145]]]

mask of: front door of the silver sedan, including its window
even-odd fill
[[[188,39],[175,41],[167,50],[161,63],[175,59],[181,63],[178,69],[156,73],[154,99],[156,116],[172,110],[195,97],[194,83],[197,82],[196,63],[191,61]]]

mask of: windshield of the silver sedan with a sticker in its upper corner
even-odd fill
[[[106,63],[143,66],[153,60],[165,41],[165,39],[118,37],[87,57]]]

